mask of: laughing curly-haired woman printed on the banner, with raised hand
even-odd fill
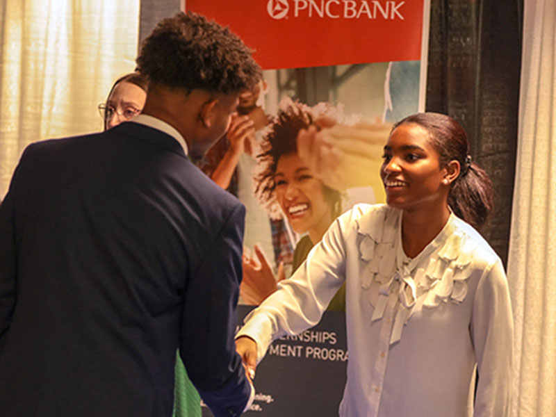
[[[299,102],[284,101],[281,111],[267,127],[261,145],[263,153],[259,156],[255,177],[259,201],[272,215],[284,215],[297,234],[305,234],[293,252],[293,271],[341,213],[341,193],[325,186],[313,174],[297,154],[296,142],[297,134],[308,129],[316,117],[323,113],[333,115],[335,110],[324,104],[310,108]],[[255,253],[261,265],[252,260],[244,263],[240,288],[245,302],[258,305],[276,291],[277,279],[260,248],[255,247]],[[278,280],[281,279],[284,279],[283,272],[279,272]],[[345,311],[344,287],[329,304],[329,309]]]

